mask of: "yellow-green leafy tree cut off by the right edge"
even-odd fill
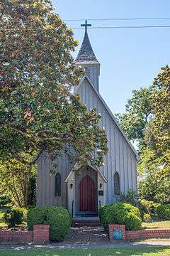
[[[154,97],[152,100],[154,118],[149,124],[146,141],[161,157],[162,164],[170,162],[170,68],[162,68],[162,72],[154,79]]]

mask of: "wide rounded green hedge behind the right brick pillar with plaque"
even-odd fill
[[[125,224],[127,230],[141,228],[140,210],[129,203],[112,203],[101,206],[99,210],[101,224],[108,230],[108,224]]]

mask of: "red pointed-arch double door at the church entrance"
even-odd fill
[[[88,175],[79,183],[79,210],[96,211],[96,186]]]

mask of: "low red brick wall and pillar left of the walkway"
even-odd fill
[[[0,242],[49,242],[50,225],[34,225],[33,230],[0,231]]]

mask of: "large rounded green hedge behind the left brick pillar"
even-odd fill
[[[49,224],[50,240],[62,241],[72,224],[72,218],[68,210],[61,206],[40,206],[31,208],[27,213],[28,230],[33,230],[35,224]]]

